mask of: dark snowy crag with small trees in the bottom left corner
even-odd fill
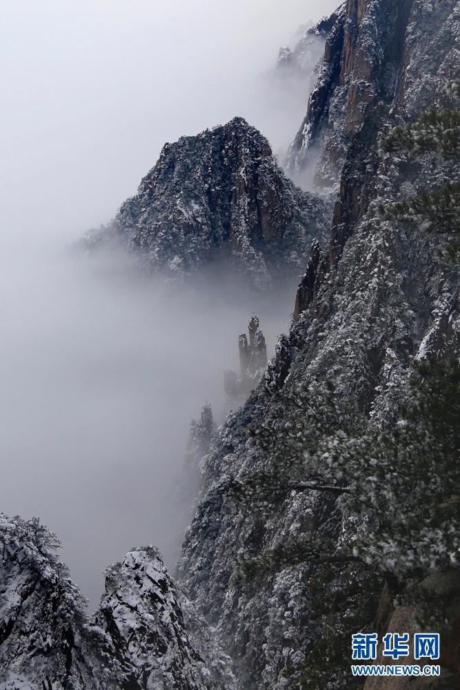
[[[37,517],[0,514],[0,688],[124,688],[112,642],[86,617],[57,546]]]

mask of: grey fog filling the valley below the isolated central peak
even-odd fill
[[[177,473],[188,424],[223,402],[238,334],[257,311],[271,351],[292,310],[206,287],[165,289],[121,257],[35,248],[0,259],[1,510],[39,515],[96,602],[105,567],[154,543],[168,564],[184,511]]]

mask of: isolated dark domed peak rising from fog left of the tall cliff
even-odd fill
[[[242,118],[166,144],[136,196],[91,246],[118,237],[172,277],[227,264],[256,286],[296,275],[312,237],[326,237],[326,206],[283,174],[268,141]]]

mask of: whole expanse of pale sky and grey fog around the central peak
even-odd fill
[[[174,302],[125,264],[63,250],[108,221],[161,146],[243,115],[287,146],[308,84],[263,78],[317,0],[0,0],[0,511],[56,530],[97,602],[106,565],[169,562],[188,421],[259,312],[270,354],[294,302],[209,286]],[[174,543],[173,543],[174,542]]]

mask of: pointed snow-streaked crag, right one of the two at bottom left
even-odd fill
[[[228,687],[214,682],[201,651],[190,642],[183,603],[190,609],[153,546],[133,549],[106,572],[106,593],[94,622],[113,640],[121,667],[132,669],[133,688]]]

